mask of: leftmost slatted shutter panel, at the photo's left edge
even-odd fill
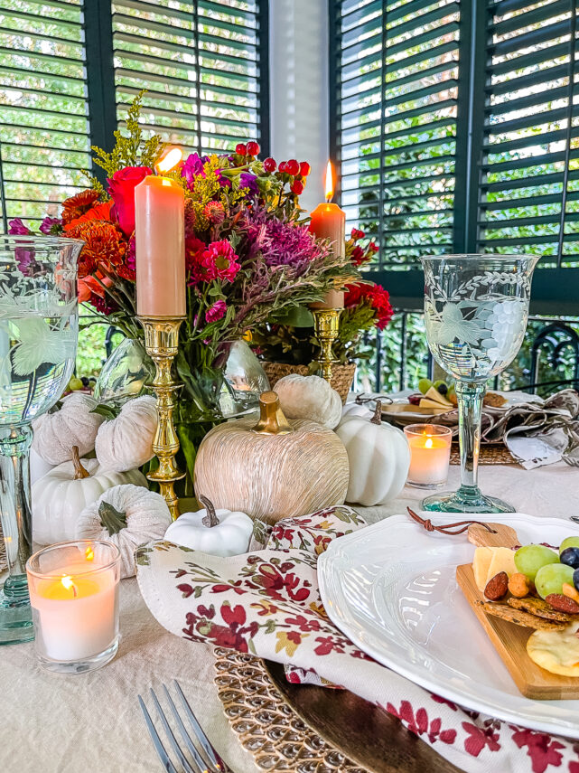
[[[80,0],[0,0],[1,227],[36,224],[90,165]]]

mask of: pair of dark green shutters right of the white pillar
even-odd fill
[[[420,255],[537,251],[536,310],[576,313],[576,0],[331,8],[341,204],[378,239],[372,278],[416,307]]]

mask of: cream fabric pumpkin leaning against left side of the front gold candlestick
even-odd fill
[[[152,459],[157,422],[154,397],[127,401],[116,419],[105,421],[98,429],[95,450],[101,467],[125,472]]]

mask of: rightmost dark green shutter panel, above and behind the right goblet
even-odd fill
[[[481,250],[579,266],[578,81],[573,0],[491,6]]]

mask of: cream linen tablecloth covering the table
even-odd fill
[[[579,515],[579,469],[564,464],[526,471],[481,467],[481,487],[519,512]],[[451,468],[450,485],[458,483]],[[408,488],[388,507],[357,508],[370,522],[416,505]],[[435,520],[435,515],[433,515]],[[121,583],[117,658],[100,671],[46,674],[33,645],[0,648],[0,771],[2,773],[154,773],[161,770],[136,701],[150,686],[178,679],[193,710],[234,773],[257,773],[229,729],[213,684],[209,647],[167,634],[150,615],[135,580]]]

